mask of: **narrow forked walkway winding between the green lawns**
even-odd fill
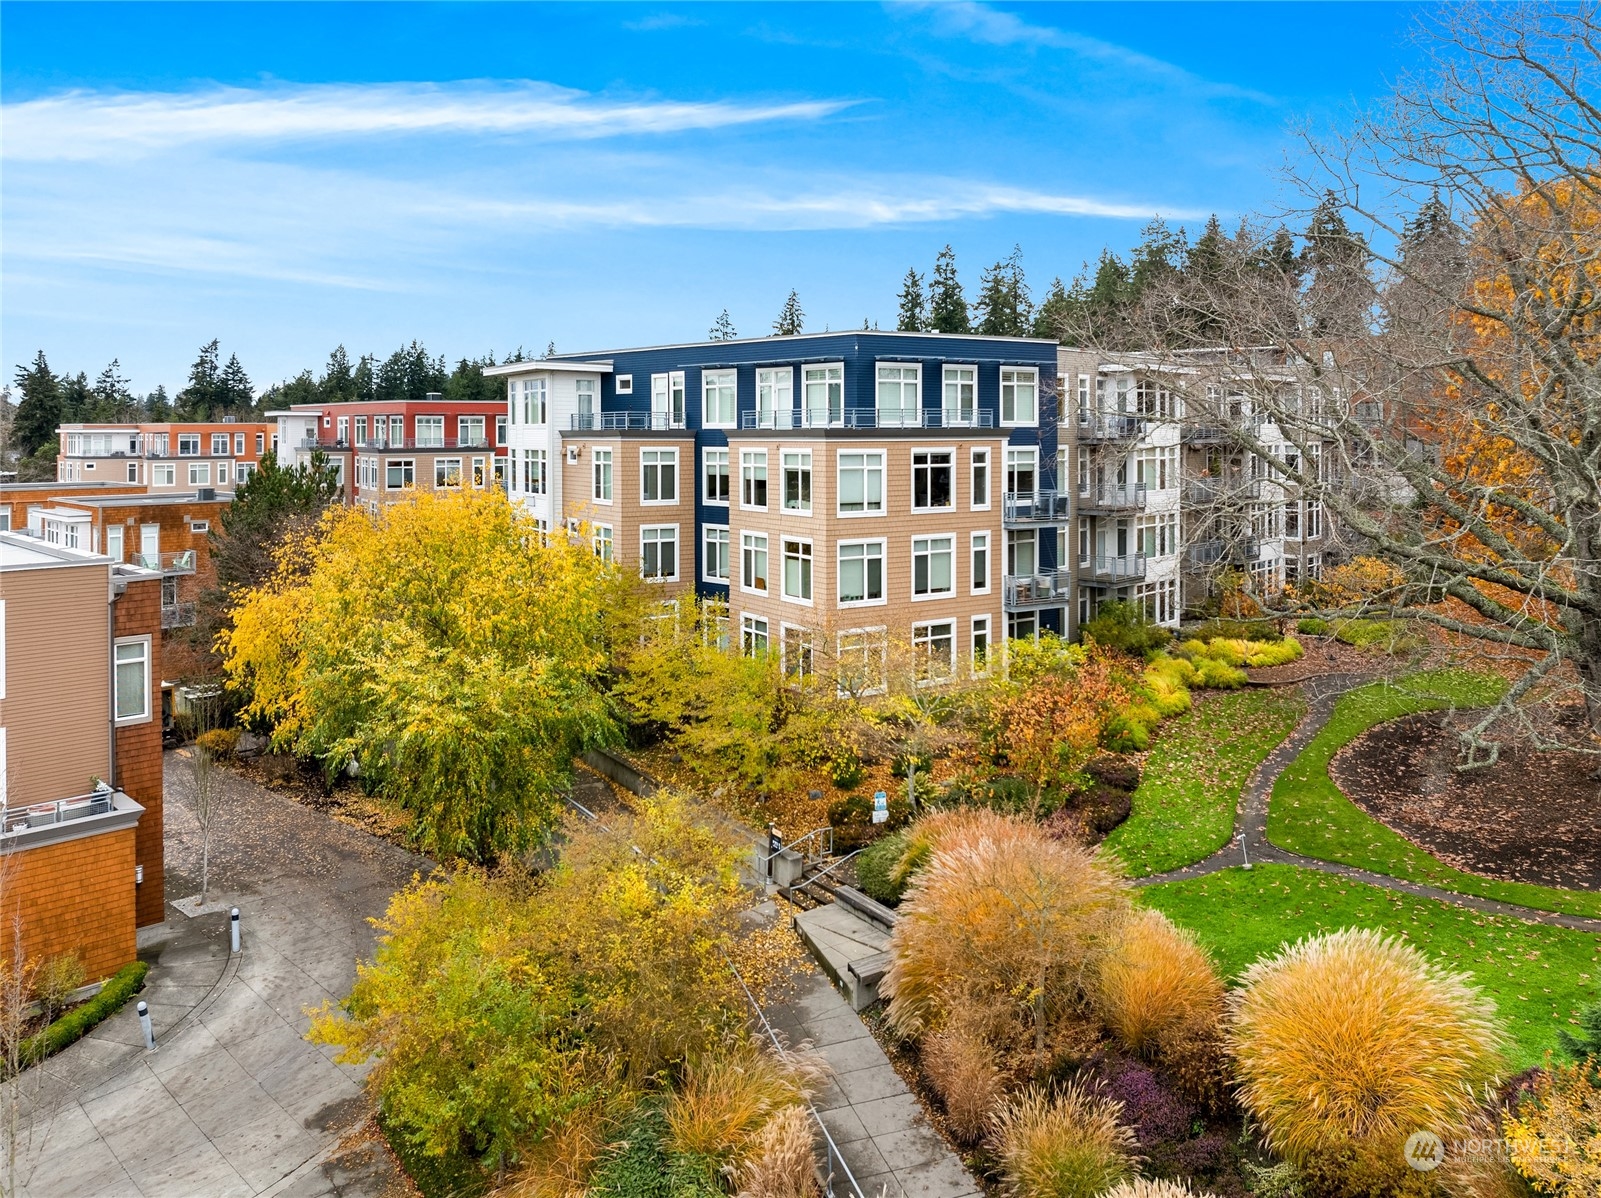
[[[1526,919],[1529,923],[1553,924],[1556,927],[1572,927],[1580,932],[1601,934],[1601,919],[1591,919],[1580,915],[1563,915],[1561,911],[1540,911],[1534,907],[1518,907],[1516,903],[1502,903],[1494,898],[1479,898],[1473,894],[1443,890],[1438,886],[1409,882],[1402,878],[1391,878],[1386,873],[1359,870],[1354,865],[1326,862],[1318,857],[1303,857],[1298,852],[1281,849],[1268,839],[1268,804],[1273,799],[1273,786],[1278,783],[1279,775],[1292,761],[1295,761],[1295,758],[1300,756],[1302,750],[1311,743],[1311,738],[1322,730],[1322,726],[1329,722],[1329,716],[1334,714],[1334,705],[1340,700],[1340,697],[1346,690],[1354,690],[1356,687],[1366,685],[1372,681],[1374,679],[1364,674],[1319,674],[1306,679],[1302,684],[1306,689],[1308,698],[1306,714],[1302,718],[1302,722],[1295,726],[1295,730],[1286,737],[1286,740],[1273,750],[1273,753],[1270,753],[1260,766],[1257,766],[1255,772],[1246,782],[1246,786],[1241,791],[1239,810],[1234,814],[1233,839],[1215,854],[1196,862],[1194,865],[1185,865],[1183,868],[1169,870],[1167,873],[1138,878],[1135,879],[1137,884],[1154,886],[1159,882],[1180,882],[1190,878],[1204,878],[1209,873],[1217,873],[1218,870],[1228,870],[1231,866],[1270,862],[1274,865],[1298,865],[1303,870],[1330,873],[1338,878],[1348,878],[1353,882],[1377,886],[1382,890],[1396,890],[1418,898],[1436,898],[1443,903],[1465,907],[1473,911],[1483,911],[1484,915],[1503,915],[1511,916],[1513,919]]]

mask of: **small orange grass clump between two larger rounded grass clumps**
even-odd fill
[[[1130,1052],[1153,1057],[1164,1039],[1215,1027],[1223,983],[1194,937],[1161,911],[1146,910],[1122,927],[1095,966],[1095,1011]]]

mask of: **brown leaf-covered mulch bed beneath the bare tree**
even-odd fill
[[[1503,745],[1495,766],[1459,774],[1443,713],[1358,737],[1329,775],[1362,810],[1459,870],[1601,890],[1601,783],[1583,753]]]

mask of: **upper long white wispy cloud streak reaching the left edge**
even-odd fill
[[[594,139],[820,120],[850,99],[687,103],[512,83],[312,83],[197,91],[64,91],[0,107],[11,160],[141,157],[194,144],[429,133]]]

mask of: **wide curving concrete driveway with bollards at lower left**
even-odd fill
[[[368,1115],[363,1070],[306,1043],[304,1007],[349,993],[355,959],[373,950],[367,918],[427,862],[232,778],[211,850],[211,897],[242,911],[243,951],[231,956],[226,913],[171,908],[197,889],[186,772],[168,754],[168,921],[139,937],[157,1051],[144,1051],[130,1003],[24,1075],[21,1195],[399,1192],[386,1152],[341,1148]]]

